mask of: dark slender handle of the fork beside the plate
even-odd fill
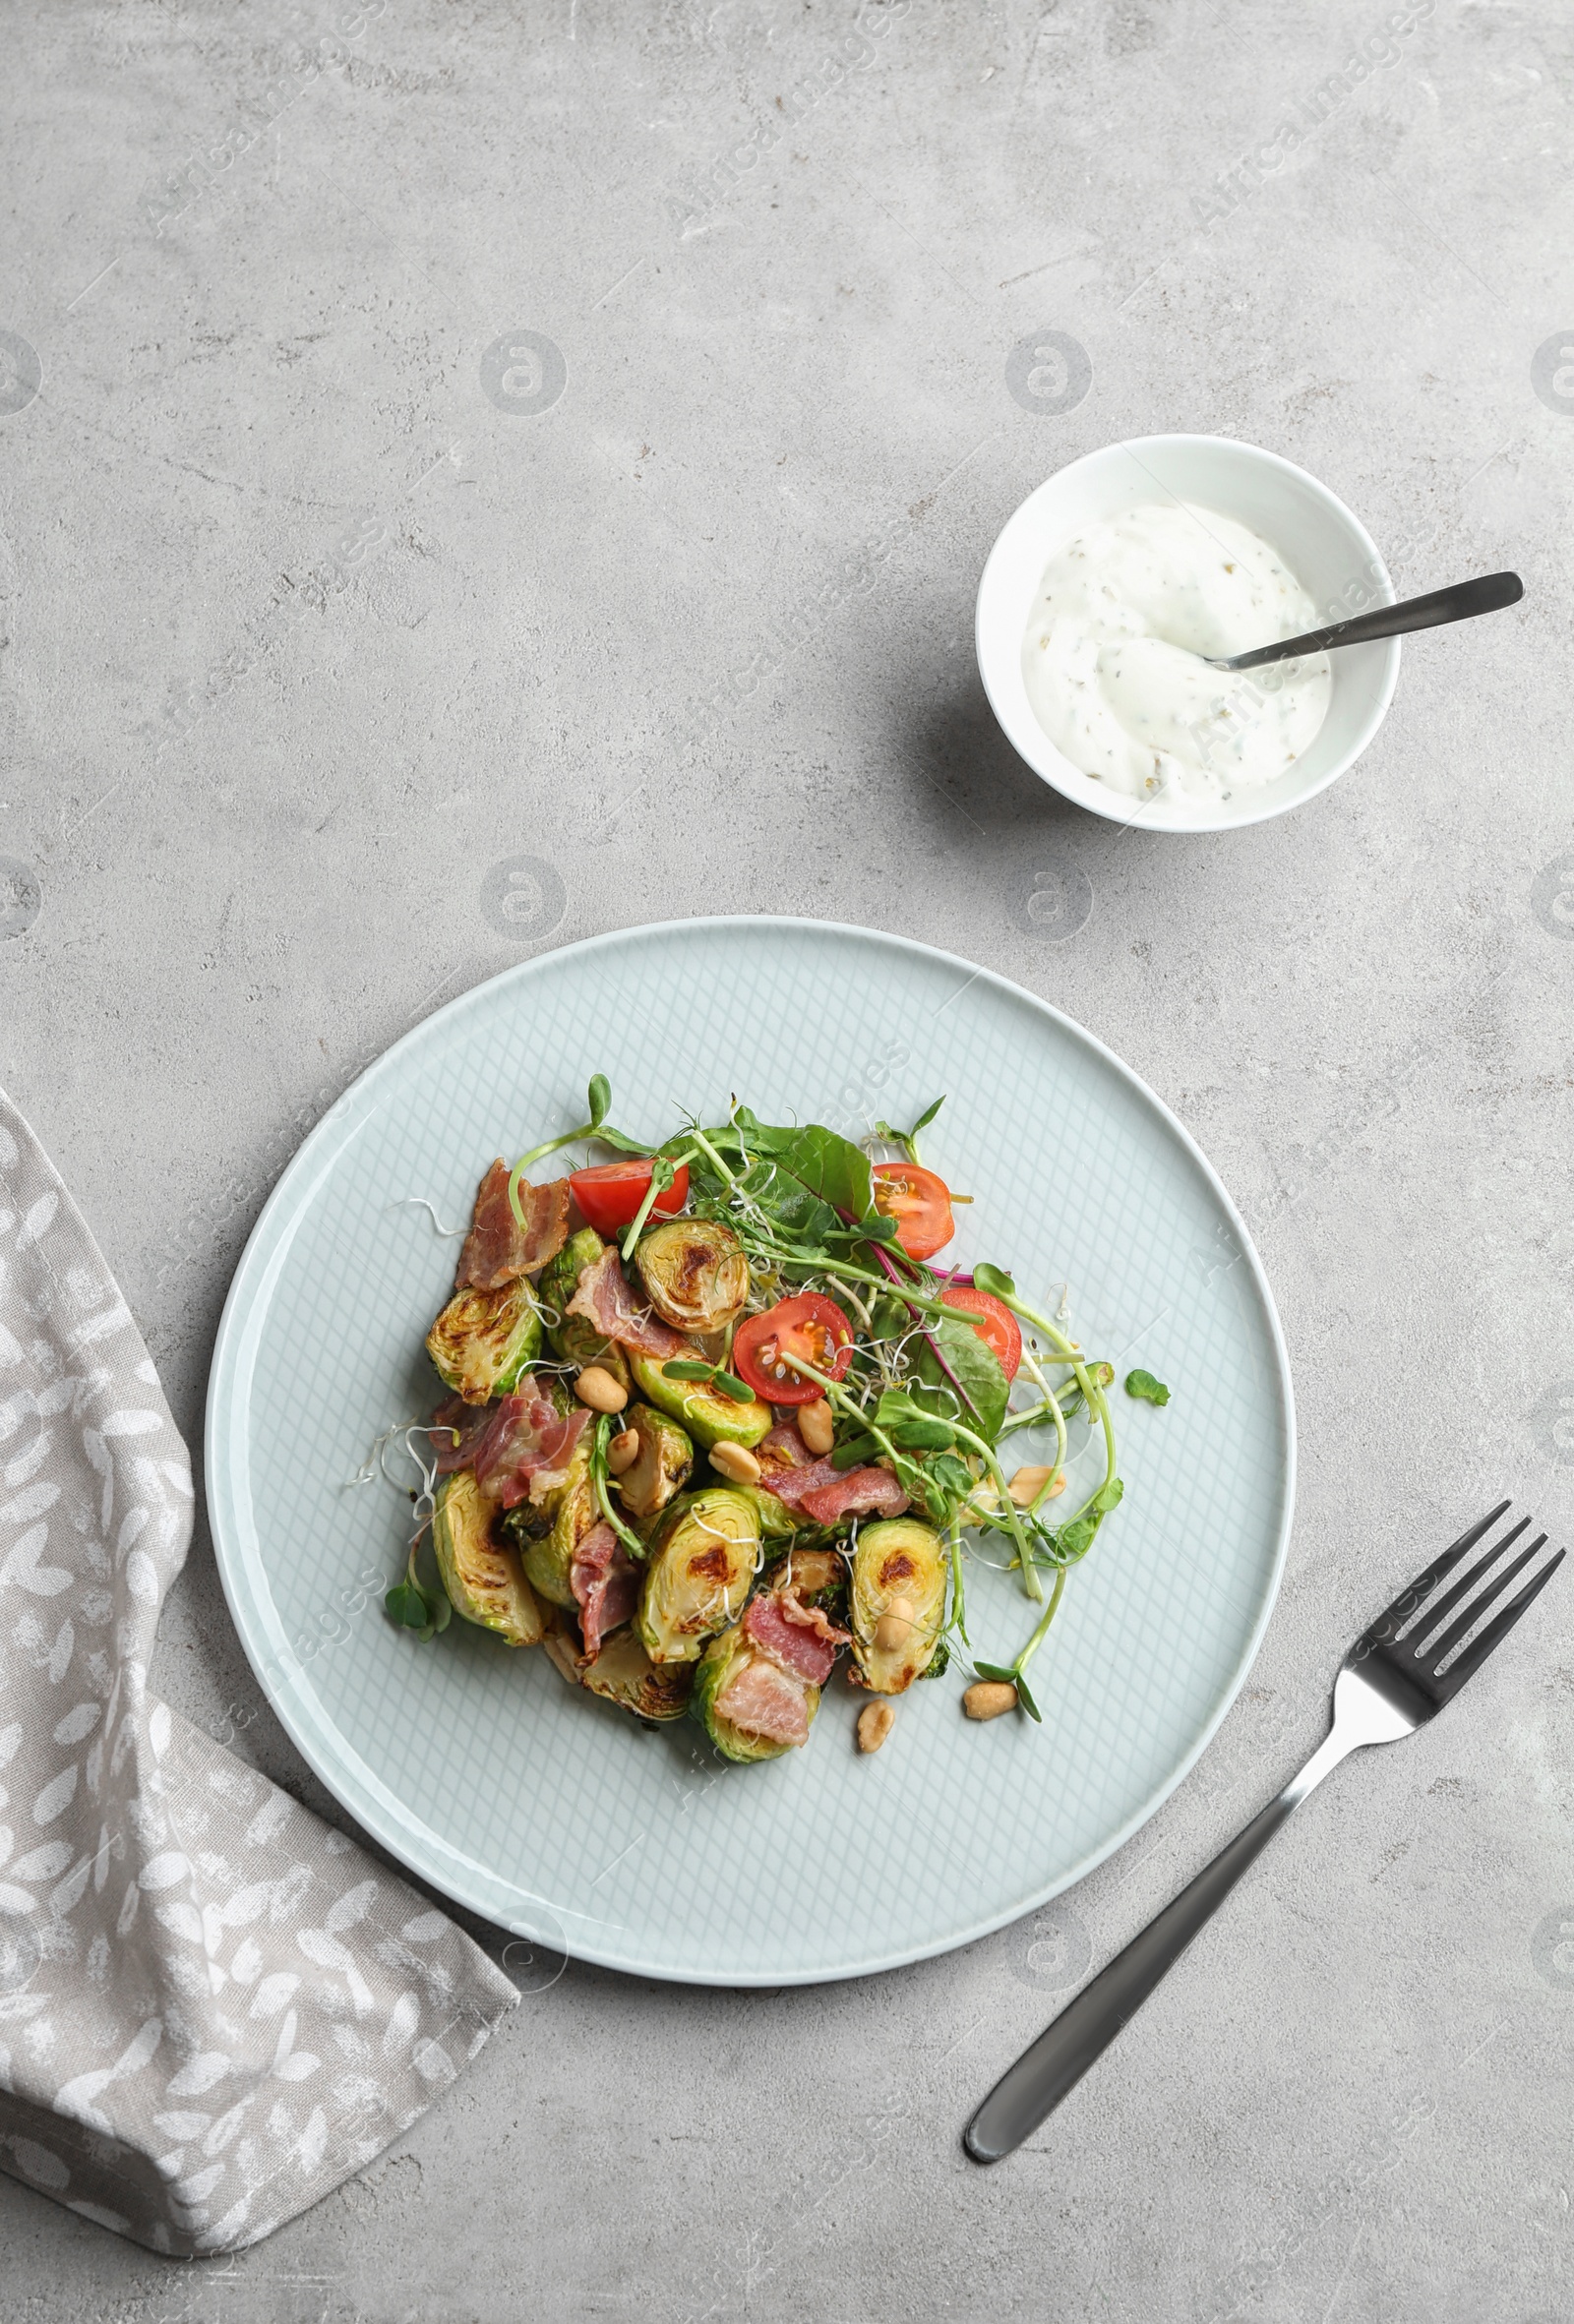
[[[1193,1936],[1218,1906],[1249,1864],[1253,1864],[1279,1827],[1302,1803],[1323,1776],[1351,1752],[1348,1736],[1330,1734],[1321,1750],[1307,1759],[1300,1776],[1283,1787],[1279,1799],[1239,1831],[1214,1862],[1197,1873],[1190,1887],[1165,1906],[1149,1927],[1118,1952],[1107,1968],[1100,1968],[1093,1985],[1060,2010],[1030,2050],[1016,2059],[995,2082],[979,2113],[967,2124],[963,2143],[976,2164],[995,2164],[1002,2154],[1021,2147],[1023,2138],[1037,2131],[1039,2122],[1081,2082],[1083,2073],[1121,2027],[1137,2015],[1165,1971],[1179,1961]]]

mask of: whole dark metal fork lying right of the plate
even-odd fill
[[[1328,1741],[1307,1759],[1279,1799],[1272,1799],[995,2082],[967,2124],[965,2145],[974,2161],[995,2164],[1002,2154],[1011,2154],[1060,2106],[1067,2089],[1081,2082],[1121,2027],[1137,2015],[1158,1980],[1186,1952],[1197,1929],[1218,1910],[1290,1810],[1300,1808],[1302,1799],[1339,1759],[1367,1743],[1397,1743],[1416,1727],[1425,1727],[1444,1703],[1453,1701],[1465,1680],[1474,1678],[1493,1648],[1502,1645],[1565,1557],[1558,1550],[1537,1566],[1523,1590],[1500,1604],[1504,1590],[1546,1548],[1546,1534],[1537,1534],[1509,1564],[1502,1564],[1504,1552],[1528,1529],[1530,1518],[1509,1527],[1451,1590],[1441,1597],[1435,1592],[1507,1511],[1507,1501],[1488,1511],[1441,1557],[1435,1557],[1425,1573],[1418,1573],[1393,1606],[1383,1608],[1376,1622],[1362,1629],[1335,1678],[1335,1722]],[[1497,1611],[1493,1613],[1493,1608]],[[1472,1636],[1488,1613],[1486,1629]]]

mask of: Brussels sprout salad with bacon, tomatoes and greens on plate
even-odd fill
[[[609,1104],[598,1074],[586,1122],[481,1178],[425,1339],[446,1397],[360,1471],[395,1446],[421,1469],[388,1615],[544,1645],[739,1764],[807,1743],[842,1657],[865,1752],[951,1657],[970,1717],[1037,1720],[1028,1666],[1123,1492],[1114,1371],[1002,1267],[939,1257],[967,1202],[918,1160],[942,1099],[863,1146],[737,1102],[649,1146]],[[574,1143],[616,1160],[528,1176]],[[1169,1399],[1146,1371],[1125,1387]],[[1102,1450],[1079,1494],[1074,1422]],[[1023,1432],[1049,1459],[1014,1464]],[[1032,1601],[1014,1659],[972,1645],[972,1562]]]

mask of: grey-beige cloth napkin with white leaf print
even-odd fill
[[[179,2257],[360,2171],[518,1999],[146,1692],[191,1518],[158,1373],[0,1090],[0,2166]]]

